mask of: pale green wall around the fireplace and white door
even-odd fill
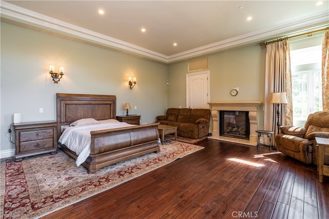
[[[210,71],[210,102],[264,102],[265,47],[253,44],[208,56]],[[168,107],[186,107],[186,74],[188,61],[169,66]],[[230,91],[239,87],[239,93]],[[264,121],[259,107],[260,127]]]

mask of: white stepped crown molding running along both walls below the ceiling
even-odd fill
[[[185,52],[174,55],[164,55],[149,49],[145,49],[134,44],[130,44],[120,39],[106,36],[94,31],[72,25],[52,17],[36,13],[25,8],[12,5],[7,2],[1,2],[1,17],[10,21],[19,22],[29,26],[48,30],[50,32],[59,33],[65,36],[80,39],[82,41],[94,43],[106,48],[111,48],[119,51],[124,51],[139,55],[154,61],[170,64],[181,60],[206,55],[209,53],[218,52],[225,49],[230,49],[237,46],[242,46],[251,43],[259,43],[273,36],[280,34],[288,34],[289,31],[295,31],[307,26],[328,23],[329,11],[323,11],[310,16],[305,16],[294,21],[289,21],[284,24],[272,26],[270,28],[259,31],[250,32],[240,36],[232,37],[219,41],[213,44],[208,44],[202,47],[187,50]]]

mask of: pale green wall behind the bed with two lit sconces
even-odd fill
[[[52,82],[49,64],[65,67],[59,84]],[[132,90],[129,76],[137,78]],[[167,65],[2,22],[1,152],[14,149],[8,129],[15,112],[22,122],[56,120],[56,93],[116,95],[117,115],[129,102],[141,124],[153,123],[168,107],[167,79]]]

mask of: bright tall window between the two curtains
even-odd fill
[[[295,126],[303,126],[309,113],[322,111],[321,54],[321,46],[290,51]]]

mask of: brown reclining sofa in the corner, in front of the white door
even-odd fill
[[[201,138],[209,133],[210,109],[167,109],[166,115],[157,116],[157,123],[177,126],[177,135],[188,138]]]

